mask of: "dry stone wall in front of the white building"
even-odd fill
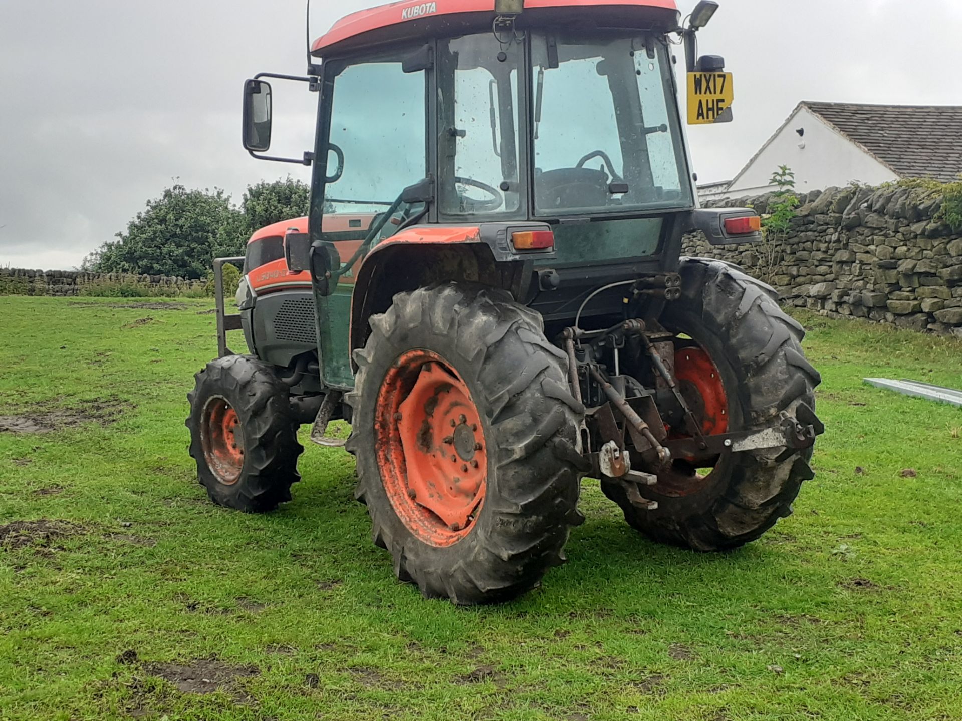
[[[942,198],[900,186],[830,187],[800,198],[781,239],[684,253],[730,261],[774,286],[787,307],[962,337],[962,234],[938,220]],[[771,195],[708,207],[768,210]]]

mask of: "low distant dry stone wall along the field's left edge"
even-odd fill
[[[83,295],[84,286],[112,284],[156,289],[157,295],[180,295],[203,289],[203,281],[168,278],[160,275],[126,273],[85,273],[72,270],[28,270],[0,268],[0,295]]]

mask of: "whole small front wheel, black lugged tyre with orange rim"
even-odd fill
[[[248,513],[290,501],[304,447],[273,366],[248,356],[212,360],[187,397],[190,456],[211,500]]]

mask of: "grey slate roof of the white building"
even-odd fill
[[[801,105],[902,178],[950,182],[962,174],[962,107]]]

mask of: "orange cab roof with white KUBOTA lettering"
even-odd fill
[[[655,20],[666,30],[680,19],[675,0],[525,0],[519,22],[586,16],[603,20],[608,27]],[[612,19],[617,24],[612,25]],[[395,40],[424,40],[456,33],[466,25],[490,26],[493,20],[494,0],[401,0],[342,17],[317,38],[311,52],[323,56]]]

